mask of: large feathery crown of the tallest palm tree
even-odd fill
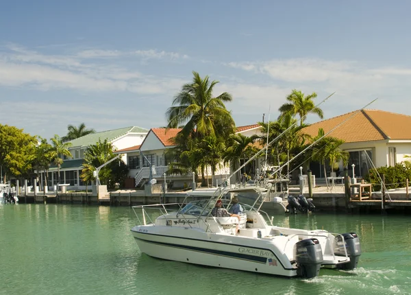
[[[201,78],[193,71],[192,83],[182,86],[175,95],[172,106],[166,111],[168,128],[176,128],[185,123],[182,129],[184,138],[194,134],[195,138],[215,135],[226,137],[234,133],[235,123],[224,102],[231,102],[229,93],[221,93],[214,97],[214,86],[218,81],[210,82],[208,76]]]

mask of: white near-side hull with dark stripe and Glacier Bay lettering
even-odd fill
[[[178,230],[186,231],[185,228]],[[151,257],[216,268],[297,276],[297,268],[265,241],[258,243],[251,239],[249,244],[244,244],[244,241],[236,244],[236,236],[227,239],[227,236],[198,232],[193,237],[190,232],[188,238],[181,233],[161,233],[156,226],[135,226],[132,229],[140,251]]]

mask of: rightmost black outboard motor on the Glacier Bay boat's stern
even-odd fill
[[[336,236],[334,239],[334,254],[338,256],[345,256],[345,249],[347,249],[347,255],[349,257],[349,262],[338,264],[337,268],[340,270],[353,270],[357,268],[358,260],[360,260],[361,255],[361,245],[360,239],[356,233],[343,233]]]

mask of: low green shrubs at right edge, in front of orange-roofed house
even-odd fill
[[[411,166],[406,163],[399,163],[390,167],[379,167],[377,171],[370,169],[369,173],[364,176],[364,179],[366,182],[372,183],[373,190],[377,191],[381,189],[381,185],[379,185],[381,179],[379,179],[377,172],[380,176],[384,174],[387,189],[406,187],[406,180],[411,179]]]

